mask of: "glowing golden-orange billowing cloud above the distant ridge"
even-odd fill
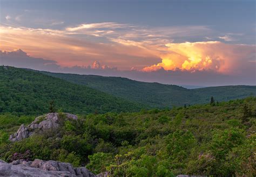
[[[224,44],[217,41],[169,43],[169,53],[160,54],[161,63],[144,67],[143,71],[213,70],[220,73],[237,72],[239,67],[255,56],[254,45]]]

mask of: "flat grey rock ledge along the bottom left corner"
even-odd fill
[[[79,176],[79,177],[103,177],[104,174],[95,175],[85,167],[74,168],[69,163],[53,160],[34,161],[16,160],[10,164],[0,160],[0,176]]]

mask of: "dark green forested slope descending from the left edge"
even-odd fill
[[[0,113],[42,114],[50,103],[70,113],[139,111],[141,105],[84,85],[10,66],[0,66]]]

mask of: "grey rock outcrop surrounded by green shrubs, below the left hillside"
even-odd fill
[[[22,124],[15,134],[10,135],[9,140],[12,142],[20,141],[24,138],[30,137],[35,132],[42,133],[47,130],[56,130],[59,127],[59,122],[62,117],[77,120],[76,115],[69,113],[63,113],[62,115],[59,113],[41,115],[28,126],[24,126],[24,124]]]

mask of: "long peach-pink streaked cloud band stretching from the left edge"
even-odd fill
[[[132,65],[145,66],[159,61],[158,56],[141,47],[104,41],[96,43],[90,38],[81,40],[61,30],[1,26],[0,35],[3,50],[22,48],[29,55],[56,60],[62,66],[89,65],[98,60],[104,65],[130,69]]]

